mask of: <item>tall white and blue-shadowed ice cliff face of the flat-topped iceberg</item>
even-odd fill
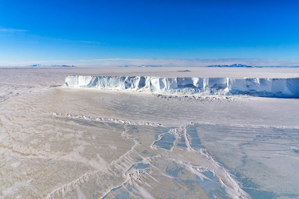
[[[299,78],[159,78],[149,76],[66,76],[65,86],[171,94],[250,95],[299,98]]]

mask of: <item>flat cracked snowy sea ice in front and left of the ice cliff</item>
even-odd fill
[[[85,69],[0,70],[1,198],[299,196],[298,99],[165,100],[55,87]]]

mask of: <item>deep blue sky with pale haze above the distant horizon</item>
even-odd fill
[[[298,0],[0,0],[0,66],[299,65]]]

